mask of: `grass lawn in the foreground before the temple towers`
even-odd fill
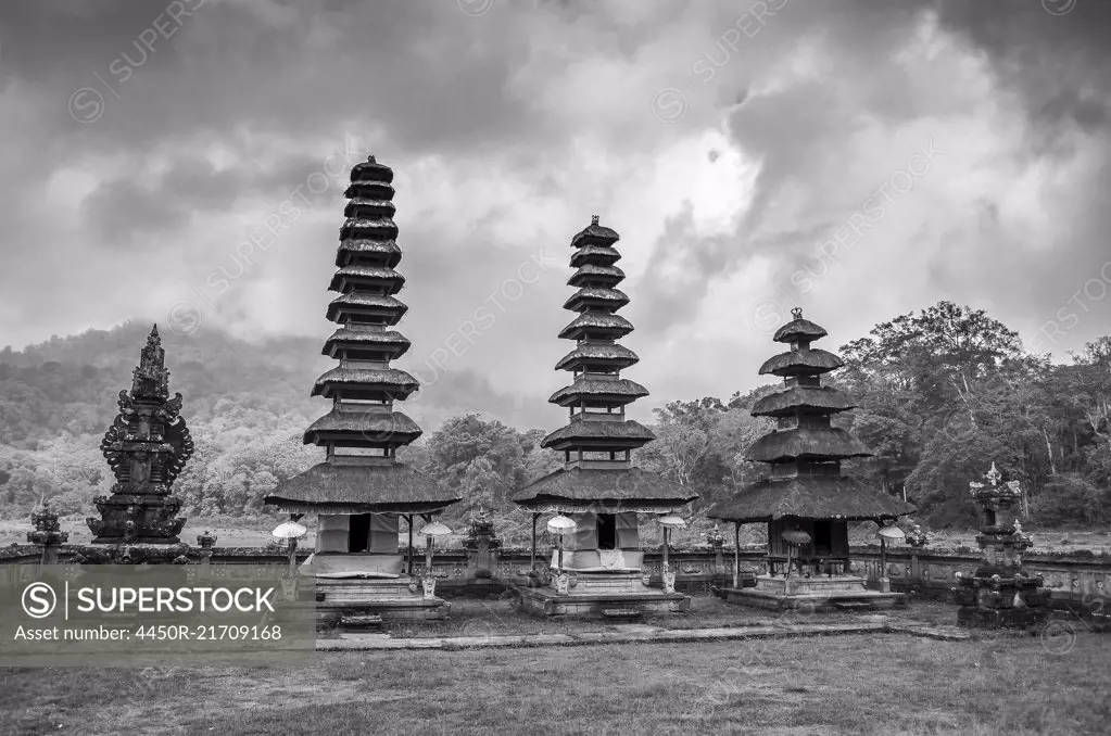
[[[950,612],[952,608],[950,608]],[[901,634],[0,669],[4,734],[1105,734],[1111,637]]]

